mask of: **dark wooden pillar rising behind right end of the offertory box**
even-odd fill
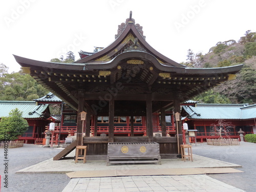
[[[152,97],[146,96],[146,136],[148,141],[153,141]]]

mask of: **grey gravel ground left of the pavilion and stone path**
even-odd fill
[[[4,187],[5,154],[0,149],[1,191],[30,192],[53,191],[59,192],[69,183],[66,174],[15,174],[17,170],[50,159],[60,152],[60,149],[44,148],[40,145],[24,144],[19,148],[8,148],[8,188]]]

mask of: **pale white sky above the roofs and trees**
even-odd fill
[[[50,61],[73,51],[93,52],[115,40],[133,11],[146,41],[176,62],[187,50],[207,53],[218,41],[256,32],[253,0],[1,0],[0,63],[20,66],[12,54]]]

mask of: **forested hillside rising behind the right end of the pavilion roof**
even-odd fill
[[[246,31],[239,41],[217,42],[205,55],[188,50],[188,67],[217,68],[244,64],[235,80],[198,95],[193,100],[204,103],[256,103],[256,33]]]

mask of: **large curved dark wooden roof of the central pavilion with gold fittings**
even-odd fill
[[[185,101],[218,86],[243,67],[188,68],[157,52],[144,38],[142,27],[130,17],[119,26],[111,45],[73,63],[14,57],[25,73],[74,109],[78,108],[79,90],[92,101],[120,85],[116,100],[144,101],[150,93],[156,105],[166,106],[174,98]],[[130,105],[133,103],[127,103]]]

